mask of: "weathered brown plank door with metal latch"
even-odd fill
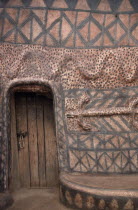
[[[58,161],[53,101],[36,93],[16,93],[11,114],[12,185],[57,185]]]

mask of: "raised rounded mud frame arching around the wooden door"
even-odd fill
[[[3,122],[2,122],[2,134],[3,134],[3,141],[5,142],[5,148],[6,150],[4,151],[4,166],[3,166],[3,171],[0,172],[3,176],[3,190],[8,190],[9,189],[9,177],[10,177],[10,170],[11,170],[11,135],[10,135],[10,104],[11,104],[11,93],[14,92],[14,89],[19,87],[22,90],[22,87],[28,85],[28,87],[30,86],[38,86],[41,87],[42,90],[46,90],[47,88],[51,89],[51,92],[53,94],[53,108],[54,108],[54,117],[55,117],[55,128],[56,128],[56,144],[57,144],[57,159],[58,159],[58,168],[59,168],[59,172],[61,169],[61,155],[64,156],[63,153],[65,153],[66,155],[66,150],[64,152],[60,152],[60,147],[62,148],[63,146],[60,144],[59,145],[59,133],[58,133],[58,111],[57,108],[59,106],[60,103],[60,107],[63,107],[63,102],[62,102],[62,86],[60,83],[57,83],[55,81],[48,81],[48,80],[43,80],[43,79],[15,79],[13,81],[11,81],[7,87],[4,89],[3,91],[3,104],[2,104],[2,116],[3,116]],[[58,100],[57,102],[57,98],[61,98],[60,102]],[[62,112],[63,110],[61,110]],[[62,113],[63,114],[63,113]],[[62,126],[61,128],[61,132],[63,133],[63,138],[64,138],[64,142],[66,141],[65,138],[65,130],[64,130],[64,126]],[[3,150],[4,148],[2,148]],[[3,152],[3,151],[2,151]],[[63,165],[63,164],[62,164]]]

